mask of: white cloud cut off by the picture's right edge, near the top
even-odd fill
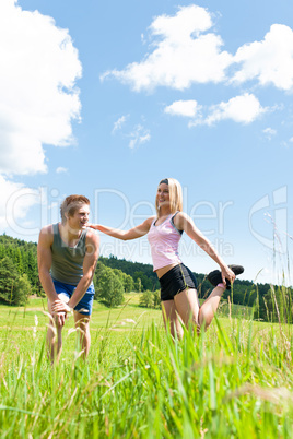
[[[293,88],[293,31],[282,24],[273,24],[262,41],[254,41],[238,48],[234,61],[242,63],[233,81],[242,83],[258,79],[261,85]]]

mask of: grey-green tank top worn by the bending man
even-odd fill
[[[62,241],[59,224],[52,225],[54,241],[51,245],[51,277],[65,284],[78,285],[83,276],[83,259],[85,256],[85,238],[87,229],[82,230],[75,247]]]

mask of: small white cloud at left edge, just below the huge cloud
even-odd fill
[[[39,202],[39,192],[24,185],[9,181],[0,175],[0,227],[17,227],[17,220],[24,218],[27,211]]]

